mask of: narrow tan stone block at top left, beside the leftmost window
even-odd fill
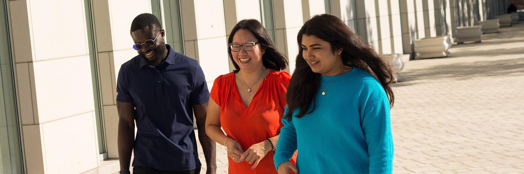
[[[9,14],[11,21],[11,32],[13,34],[13,53],[15,62],[31,62],[34,60],[34,49],[32,49],[31,21],[28,13],[27,1],[10,1]]]

